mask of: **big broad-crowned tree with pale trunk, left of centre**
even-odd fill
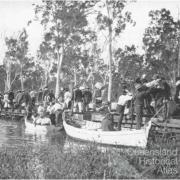
[[[46,41],[51,44],[57,60],[56,92],[60,90],[60,74],[65,59],[69,59],[70,49],[74,52],[86,42],[83,37],[89,34],[87,15],[91,13],[93,1],[42,1],[36,5],[35,14],[44,26]],[[72,52],[72,51],[71,51]],[[75,58],[76,59],[76,58]],[[73,64],[73,63],[71,63]]]

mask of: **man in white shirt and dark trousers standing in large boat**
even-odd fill
[[[118,105],[117,105],[117,112],[120,114],[118,120],[118,130],[121,130],[121,124],[124,117],[125,107],[128,101],[130,101],[131,99],[132,99],[132,94],[130,94],[127,89],[123,89],[123,93],[122,95],[119,96]]]

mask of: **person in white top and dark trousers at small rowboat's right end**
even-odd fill
[[[59,125],[62,124],[62,113],[64,110],[64,103],[62,101],[62,97],[59,97],[58,100],[55,100],[55,103],[50,103],[47,107],[47,111],[49,112],[49,117],[51,119],[52,124]]]

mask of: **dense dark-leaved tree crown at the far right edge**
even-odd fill
[[[179,22],[167,9],[150,11],[149,17],[143,38],[147,67],[174,81],[178,72]]]

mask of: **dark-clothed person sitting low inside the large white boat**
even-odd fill
[[[114,131],[114,123],[112,114],[106,114],[105,118],[101,122],[102,131]]]

